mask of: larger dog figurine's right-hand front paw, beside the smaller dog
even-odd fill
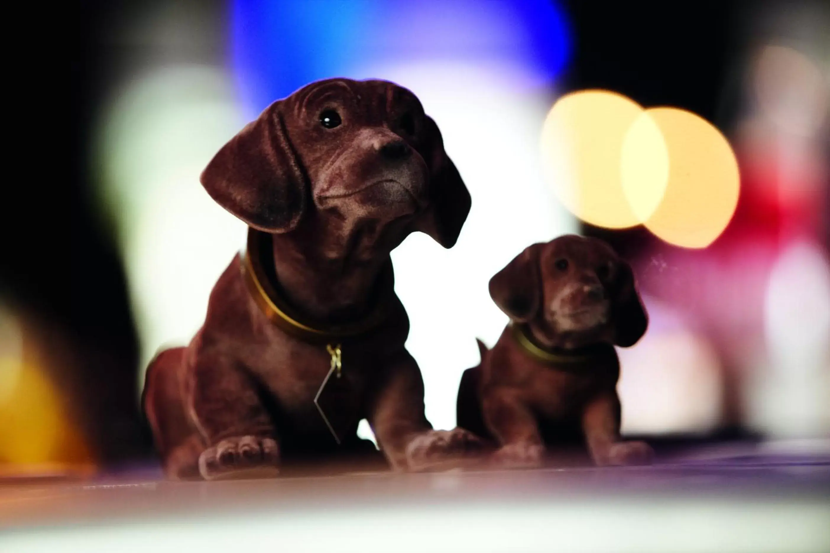
[[[407,465],[413,471],[455,468],[481,457],[485,449],[485,442],[465,429],[430,430],[407,444]]]

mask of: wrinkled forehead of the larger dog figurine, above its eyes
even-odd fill
[[[320,80],[297,90],[286,104],[300,118],[336,108],[354,110],[372,120],[385,120],[408,109],[422,110],[411,91],[386,80]]]

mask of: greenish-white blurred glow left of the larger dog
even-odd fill
[[[163,67],[129,81],[102,122],[105,211],[119,235],[139,328],[141,378],[160,347],[190,341],[247,226],[199,174],[246,121],[216,67]]]

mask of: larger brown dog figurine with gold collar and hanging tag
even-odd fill
[[[250,230],[193,341],[148,369],[144,410],[170,477],[354,454],[364,418],[393,468],[476,449],[466,430],[427,421],[393,290],[390,251],[415,230],[451,247],[470,210],[413,93],[382,80],[305,86],[232,138],[202,183]]]

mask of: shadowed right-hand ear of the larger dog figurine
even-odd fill
[[[445,248],[452,248],[461,233],[461,226],[470,213],[470,192],[456,166],[444,151],[444,142],[437,124],[424,115],[427,148],[424,160],[430,172],[429,207],[422,218],[419,230]]]

